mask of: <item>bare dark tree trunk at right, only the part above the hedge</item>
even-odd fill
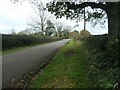
[[[107,3],[107,15],[108,15],[108,33],[109,39],[115,40],[118,38],[120,31],[118,30],[118,3],[108,2]]]

